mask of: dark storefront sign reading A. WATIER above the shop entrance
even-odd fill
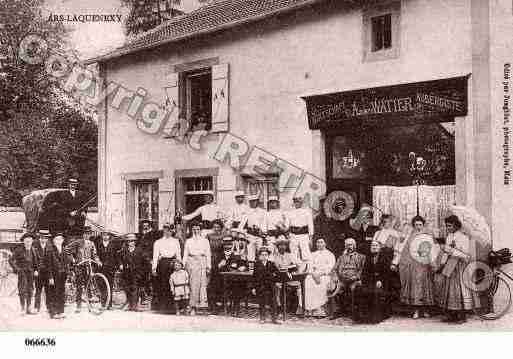
[[[467,77],[376,87],[303,98],[310,129],[394,117],[467,114]]]

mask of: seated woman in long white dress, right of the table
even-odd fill
[[[335,256],[326,249],[326,242],[319,238],[317,250],[312,253],[311,273],[305,279],[306,315],[326,316],[324,305],[328,302],[329,273],[335,266]]]

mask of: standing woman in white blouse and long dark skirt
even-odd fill
[[[153,287],[154,309],[164,312],[174,310],[174,302],[169,287],[169,277],[173,272],[174,262],[180,259],[182,250],[180,242],[173,237],[174,225],[165,223],[164,235],[153,245],[151,273],[155,279]]]

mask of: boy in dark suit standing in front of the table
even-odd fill
[[[276,300],[274,296],[275,283],[278,276],[278,268],[269,260],[271,249],[266,246],[258,250],[258,261],[255,263],[253,280],[255,283],[255,294],[257,296],[260,323],[265,323],[265,306],[271,306],[271,317],[274,324],[280,324],[276,318]]]

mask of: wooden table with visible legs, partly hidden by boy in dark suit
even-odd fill
[[[220,272],[219,273],[223,278],[223,308],[225,315],[228,314],[227,308],[227,289],[228,284],[232,282],[244,282],[244,283],[252,283],[253,282],[253,272]],[[303,307],[303,313],[301,315],[302,318],[305,316],[305,279],[308,273],[291,273],[292,279],[286,278],[286,276],[281,276],[281,279],[277,281],[277,283],[281,283],[281,298],[282,298],[282,309],[283,309],[283,320],[287,320],[287,283],[292,281],[298,281],[301,286],[301,304]]]

